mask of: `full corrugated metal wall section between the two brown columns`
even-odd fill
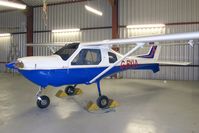
[[[103,12],[97,16],[85,10],[84,5],[91,5]],[[34,8],[34,31],[68,28],[95,28],[111,26],[111,6],[107,0],[94,0],[49,6],[47,26],[44,25],[41,7]],[[97,41],[111,38],[111,29],[90,29],[73,33],[34,33],[34,43]],[[34,55],[49,55],[50,50],[44,46],[35,46]]]

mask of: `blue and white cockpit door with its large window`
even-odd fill
[[[100,48],[82,48],[70,61],[71,75],[83,82],[89,81],[101,71],[101,63]]]

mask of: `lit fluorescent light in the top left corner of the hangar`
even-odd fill
[[[12,7],[12,8],[17,8],[17,9],[26,9],[26,5],[16,3],[16,2],[11,2],[11,1],[0,0],[0,6]]]

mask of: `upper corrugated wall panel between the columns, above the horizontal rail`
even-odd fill
[[[103,16],[88,12],[85,4],[101,10]],[[103,26],[111,26],[111,5],[107,0],[49,6],[47,26],[44,25],[42,8],[34,8],[34,31]]]

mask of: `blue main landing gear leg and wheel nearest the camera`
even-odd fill
[[[98,107],[102,109],[108,108],[109,99],[107,96],[101,94],[100,81],[97,81],[97,89],[98,89],[98,94],[99,94],[99,97],[97,99]]]

